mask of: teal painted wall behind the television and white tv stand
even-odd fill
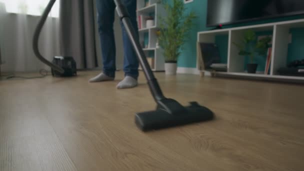
[[[180,57],[178,58],[178,67],[196,67],[196,41],[197,41],[197,32],[198,31],[204,31],[211,29],[210,27],[206,26],[206,15],[207,15],[207,0],[193,0],[193,2],[189,2],[185,4],[185,7],[187,8],[187,11],[194,11],[196,15],[198,16],[195,19],[195,26],[190,31],[189,41],[185,43],[184,50],[182,51]],[[234,25],[228,25],[224,26],[224,28],[227,27],[235,27],[235,26],[244,26],[244,25],[251,25],[251,24],[261,24],[266,22],[276,22],[276,21],[283,21],[283,20],[289,20],[289,19],[298,19],[303,18],[304,15],[299,16],[291,16],[291,17],[281,17],[281,18],[275,18],[275,19],[265,19],[260,21],[251,21],[247,23],[241,23],[241,24],[234,24]],[[303,44],[304,44],[304,31],[303,29],[291,29],[290,32],[292,33],[292,43],[289,44],[288,49],[288,61],[298,58],[304,58],[304,56],[299,56],[299,54],[303,54]],[[226,62],[226,50],[227,44],[225,44],[224,38],[226,39],[227,36],[223,37],[217,37],[216,43],[218,43],[220,54],[222,58],[222,62]],[[262,70],[262,66],[258,68],[259,70]]]

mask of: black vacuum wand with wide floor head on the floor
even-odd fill
[[[50,0],[48,7],[51,8],[55,0]],[[173,126],[180,126],[189,123],[207,121],[214,118],[213,112],[205,106],[199,105],[197,102],[189,102],[188,106],[182,106],[178,101],[167,98],[163,95],[160,86],[154,77],[154,74],[147,62],[146,56],[136,39],[136,32],[131,25],[131,21],[125,6],[120,0],[114,0],[116,12],[123,23],[132,46],[139,59],[141,68],[143,69],[150,92],[156,102],[156,109],[151,111],[135,113],[135,124],[142,131],[157,130]],[[49,11],[49,10],[48,10]],[[41,57],[41,56],[40,56]],[[53,69],[63,72],[61,67],[46,62]]]

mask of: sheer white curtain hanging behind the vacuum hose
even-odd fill
[[[9,0],[5,1],[8,3]],[[59,2],[59,1],[58,1]],[[27,4],[27,2],[25,3]],[[18,3],[13,4],[17,7]],[[1,7],[2,6],[2,7]],[[20,13],[1,12],[0,5],[0,48],[2,71],[39,71],[50,68],[35,57],[32,50],[32,36],[40,16]],[[8,8],[8,7],[7,7]],[[2,15],[4,14],[4,15]],[[3,23],[4,22],[4,23]],[[39,37],[39,51],[47,59],[52,60],[59,55],[59,18],[47,17]]]

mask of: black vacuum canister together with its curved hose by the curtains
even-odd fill
[[[49,1],[36,26],[32,41],[33,51],[41,62],[51,67],[52,76],[74,76],[77,74],[77,70],[76,61],[72,56],[54,56],[52,62],[49,62],[40,54],[38,49],[38,39],[41,29],[55,1],[56,0]]]

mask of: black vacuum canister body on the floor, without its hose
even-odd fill
[[[53,76],[75,76],[77,75],[76,61],[71,56],[54,56],[52,63],[61,67],[63,73],[51,68],[51,74]]]

